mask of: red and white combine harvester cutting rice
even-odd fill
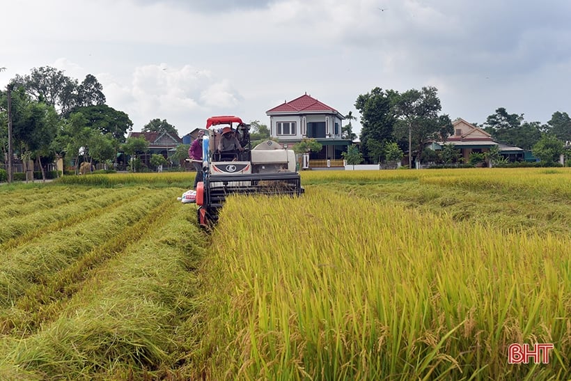
[[[243,150],[220,152],[222,130],[230,128]],[[212,116],[203,138],[203,182],[196,186],[198,224],[208,227],[218,219],[228,194],[304,193],[295,153],[272,140],[251,148],[250,126],[237,116]]]

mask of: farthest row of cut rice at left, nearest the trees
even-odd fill
[[[38,212],[38,210],[50,210],[61,205],[74,203],[77,200],[90,199],[102,194],[105,194],[105,189],[58,187],[58,190],[54,191],[52,185],[10,192],[10,196],[6,197],[1,194],[0,219],[22,217]]]

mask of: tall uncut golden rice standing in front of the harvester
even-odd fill
[[[247,380],[566,374],[570,237],[312,190],[227,200],[194,367]],[[509,365],[522,342],[554,343],[550,363]]]

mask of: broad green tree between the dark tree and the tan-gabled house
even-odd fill
[[[398,123],[394,135],[397,139],[408,141],[409,164],[416,152],[416,161],[430,141],[445,141],[453,133],[453,126],[447,114],[439,115],[442,107],[438,98],[438,89],[430,86],[421,91],[412,89],[402,93],[396,102],[395,115]]]

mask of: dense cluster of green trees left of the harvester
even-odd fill
[[[24,164],[36,161],[43,178],[45,164],[58,157],[74,158],[76,164],[80,157],[90,164],[94,160],[111,164],[119,151],[135,154],[148,147],[142,138],[125,139],[133,123],[125,112],[106,104],[103,86],[94,75],[79,82],[45,66],[33,68],[29,75],[16,75],[0,91],[3,162],[8,161],[8,95],[13,153]],[[143,132],[178,135],[173,125],[159,118],[150,120]]]

